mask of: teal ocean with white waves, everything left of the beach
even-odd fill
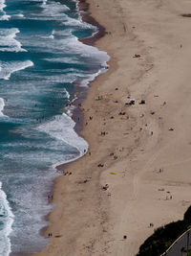
[[[97,28],[72,0],[0,0],[0,255],[48,244],[55,166],[87,151],[74,130],[79,94],[108,55],[78,39]]]

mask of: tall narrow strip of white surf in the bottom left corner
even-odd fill
[[[0,236],[0,255],[9,256],[11,253],[11,225],[14,221],[14,215],[11,212],[10,203],[7,200],[5,192],[2,190],[2,183],[0,182],[0,221],[4,223],[4,228],[1,230]]]

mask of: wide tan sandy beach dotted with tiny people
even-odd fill
[[[110,69],[82,105],[91,155],[56,179],[59,206],[46,231],[53,237],[40,256],[134,256],[155,228],[182,219],[191,204],[191,18],[181,16],[190,2],[88,2],[108,32],[96,47],[110,55]],[[128,97],[136,104],[125,105]]]

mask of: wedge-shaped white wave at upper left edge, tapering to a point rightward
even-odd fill
[[[9,80],[12,73],[31,66],[33,66],[33,62],[31,60],[0,62],[0,79]]]

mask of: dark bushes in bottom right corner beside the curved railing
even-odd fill
[[[191,206],[184,214],[182,221],[171,222],[155,230],[144,244],[139,247],[137,256],[159,256],[173,244],[180,235],[191,226]],[[191,256],[188,254],[186,256]]]

